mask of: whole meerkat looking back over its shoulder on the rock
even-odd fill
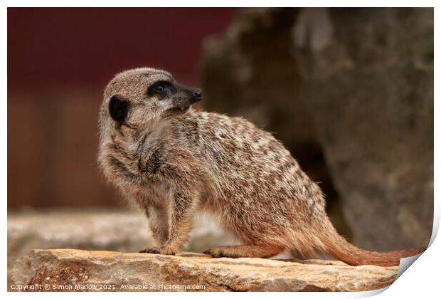
[[[270,258],[290,249],[352,266],[397,266],[420,252],[378,253],[346,241],[321,189],[280,141],[242,117],[194,110],[201,99],[200,89],[154,68],[126,70],[105,88],[98,162],[149,219],[156,246],[141,252],[181,251],[198,211],[217,215],[242,243],[204,252],[213,257]]]

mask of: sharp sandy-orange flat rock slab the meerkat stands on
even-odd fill
[[[44,285],[50,290],[154,290],[152,285],[179,290],[176,285],[203,285],[216,291],[361,291],[390,285],[397,270],[339,261],[53,249],[34,250],[18,259],[13,280],[15,285],[42,285],[41,290],[46,290]]]

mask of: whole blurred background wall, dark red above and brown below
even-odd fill
[[[8,9],[8,206],[111,206],[95,162],[115,73],[165,68],[197,85],[207,36],[237,9]]]

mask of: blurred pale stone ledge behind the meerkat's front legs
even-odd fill
[[[186,250],[203,252],[238,241],[207,215],[198,216]],[[17,258],[34,248],[137,252],[152,246],[141,211],[47,209],[8,214],[8,276]]]

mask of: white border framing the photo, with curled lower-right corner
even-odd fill
[[[268,6],[309,6],[309,7],[336,7],[336,6],[356,6],[356,7],[366,7],[366,6],[400,6],[400,7],[435,7],[435,98],[437,98],[437,95],[439,95],[439,88],[436,85],[439,79],[439,73],[437,70],[439,70],[439,63],[436,59],[436,57],[439,57],[437,54],[439,54],[440,46],[439,46],[439,38],[436,38],[437,33],[439,33],[439,27],[440,27],[440,13],[438,11],[438,8],[436,7],[437,1],[379,1],[379,0],[371,0],[371,1],[314,1],[314,3],[311,3],[310,1],[231,1],[231,0],[224,0],[224,1],[210,1],[209,3],[207,1],[135,1],[135,0],[124,0],[124,1],[115,1],[115,0],[109,0],[109,1],[91,1],[91,0],[77,0],[77,1],[4,1],[6,6],[4,6],[4,9],[1,11],[1,41],[4,46],[1,47],[2,51],[2,58],[4,61],[4,68],[1,71],[1,94],[4,95],[4,100],[1,100],[1,130],[3,133],[3,136],[7,135],[7,54],[6,54],[6,43],[7,43],[7,31],[6,31],[6,18],[7,18],[7,10],[6,7],[18,7],[18,6],[43,6],[43,7],[49,7],[49,6],[59,6],[59,7],[75,7],[75,6],[84,6],[84,7],[105,7],[105,6],[121,6],[121,7],[129,7],[129,6],[135,6],[135,7],[142,7],[142,6],[152,6],[152,7],[164,7],[164,6],[171,6],[171,7],[184,7],[190,6],[190,7],[198,7],[198,6],[206,6],[206,7],[228,7],[228,6],[257,6],[257,7],[268,7]],[[303,4],[303,5],[302,5]],[[437,101],[435,101],[435,115],[440,115],[440,107],[437,105]],[[435,132],[440,132],[440,122],[437,120],[437,117],[435,117]],[[435,134],[435,152],[440,149],[440,138],[437,137]],[[1,273],[1,283],[4,283],[4,291],[6,291],[6,255],[7,255],[7,248],[6,248],[6,231],[7,231],[7,209],[6,209],[6,200],[7,200],[7,146],[6,146],[6,138],[3,138],[3,146],[1,147],[1,165],[2,171],[1,171],[1,194],[2,198],[4,199],[4,210],[2,210],[2,213],[4,215],[3,221],[1,222],[2,226],[2,234],[4,245],[1,246],[1,254],[3,257],[3,269]],[[441,169],[440,159],[437,159],[435,156],[435,169]],[[438,295],[437,288],[439,286],[439,276],[438,276],[438,270],[440,269],[440,260],[437,256],[437,252],[440,251],[441,245],[440,241],[435,239],[437,229],[439,227],[440,223],[440,192],[438,191],[437,187],[440,187],[440,179],[439,176],[435,174],[435,215],[434,215],[434,234],[432,235],[432,244],[430,248],[427,249],[425,253],[423,253],[420,258],[418,258],[417,261],[410,267],[408,271],[405,271],[398,280],[395,281],[390,287],[384,291],[383,293],[378,291],[372,291],[372,292],[364,292],[364,293],[271,293],[271,294],[265,294],[265,293],[232,293],[228,295],[233,296],[241,296],[241,295],[252,295],[255,298],[264,298],[268,295],[270,296],[280,296],[280,297],[289,297],[292,298],[292,296],[295,296],[296,298],[315,298],[320,296],[321,298],[327,297],[327,298],[358,298],[358,297],[366,297],[370,295],[376,295],[377,293],[380,293],[378,295],[379,298],[415,298],[416,296],[419,297],[427,297],[430,298],[432,295]],[[418,200],[418,199],[415,199]],[[63,296],[66,296],[67,298],[73,298],[77,297],[79,293],[65,293]],[[207,293],[82,293],[85,297],[95,297],[95,296],[105,296],[105,298],[120,298],[121,296],[124,297],[130,297],[133,298],[134,296],[149,296],[149,298],[163,298],[163,296],[184,296],[192,298],[202,298],[206,297]],[[14,298],[23,298],[27,297],[27,293],[7,293],[8,296],[14,297]],[[210,293],[210,296],[218,297],[218,298],[224,298],[226,294],[225,293]],[[58,298],[60,294],[58,293],[33,293],[33,298]],[[266,298],[265,298],[266,299]]]

